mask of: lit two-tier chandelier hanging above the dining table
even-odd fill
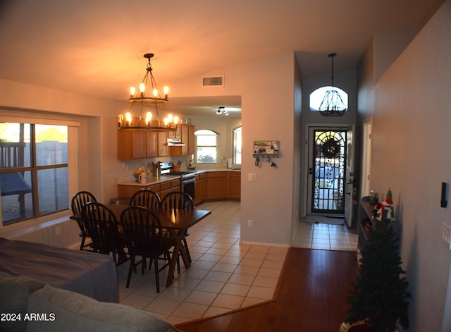
[[[164,87],[163,94],[161,94],[156,86],[154,75],[152,74],[152,64],[150,59],[154,56],[153,53],[144,54],[149,62],[147,63],[146,74],[140,83],[139,92],[135,87],[130,87],[130,109],[125,116],[118,115],[118,126],[120,129],[126,128],[145,128],[161,131],[175,130],[179,121],[178,116],[173,116],[166,112],[164,104],[168,102],[169,88]],[[134,116],[135,112],[137,116]],[[163,120],[160,120],[160,114]]]

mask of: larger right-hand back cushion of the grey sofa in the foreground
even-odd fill
[[[30,295],[26,331],[178,331],[159,316],[117,303],[99,302],[69,290],[46,285]]]

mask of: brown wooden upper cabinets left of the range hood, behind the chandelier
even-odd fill
[[[118,159],[153,158],[167,156],[166,132],[140,129],[118,130]]]

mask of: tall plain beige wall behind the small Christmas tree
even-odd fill
[[[450,297],[451,252],[440,242],[441,224],[451,225],[450,207],[440,208],[440,184],[451,183],[450,40],[448,0],[373,90],[372,78],[363,78],[366,94],[359,92],[364,117],[373,116],[371,187],[384,195],[391,187],[402,223],[401,255],[412,292],[409,331],[440,331]],[[372,63],[366,56],[363,72]]]

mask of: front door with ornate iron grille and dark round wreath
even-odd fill
[[[347,128],[309,128],[308,214],[345,215]]]

